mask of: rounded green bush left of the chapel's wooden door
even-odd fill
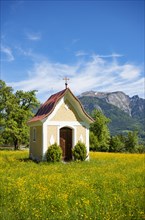
[[[48,162],[59,162],[62,159],[62,149],[56,143],[49,146],[46,159]]]

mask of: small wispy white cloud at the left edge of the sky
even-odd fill
[[[2,45],[0,50],[2,53],[2,61],[11,62],[14,60],[14,55],[13,55],[12,49],[10,47]]]

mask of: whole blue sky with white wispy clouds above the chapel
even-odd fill
[[[1,0],[1,79],[45,101],[123,91],[144,97],[144,0]]]

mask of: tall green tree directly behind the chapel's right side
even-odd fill
[[[92,117],[94,118],[95,122],[91,124],[90,131],[93,132],[93,134],[96,136],[96,140],[97,140],[96,142],[98,142],[98,146],[96,150],[108,151],[110,132],[107,124],[110,122],[110,119],[107,118],[99,110],[95,110],[92,114]]]

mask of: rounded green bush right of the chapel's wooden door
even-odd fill
[[[73,150],[72,150],[73,156],[74,156],[74,160],[85,160],[87,157],[87,149],[85,144],[83,144],[82,142],[78,142]]]

